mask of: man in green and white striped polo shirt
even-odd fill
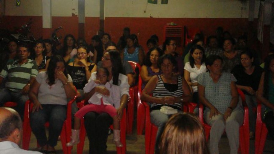
[[[0,73],[0,84],[7,77],[5,88],[0,90],[0,106],[8,101],[16,102],[18,105],[15,110],[23,120],[25,102],[29,99],[30,86],[38,74],[38,65],[35,61],[28,59],[30,50],[25,44],[18,46],[17,55],[19,59],[8,62]]]

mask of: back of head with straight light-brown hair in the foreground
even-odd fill
[[[203,125],[189,113],[172,115],[166,123],[159,148],[160,154],[207,153]]]

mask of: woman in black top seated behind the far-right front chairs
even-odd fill
[[[253,107],[256,106],[255,93],[258,90],[263,69],[254,65],[252,52],[244,51],[240,54],[241,65],[236,65],[231,73],[237,79],[236,86],[241,89],[246,97],[246,104],[249,109],[249,128],[250,138],[254,138],[255,132],[255,114]]]

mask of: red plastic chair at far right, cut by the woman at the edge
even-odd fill
[[[257,100],[257,120],[255,130],[255,154],[261,154],[264,152],[264,144],[267,138],[267,126],[262,121],[261,108],[262,104]]]

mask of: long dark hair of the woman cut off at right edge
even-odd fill
[[[269,91],[269,76],[271,73],[270,70],[270,62],[274,59],[274,54],[271,54],[265,58],[264,63],[264,97],[268,99],[268,91]]]

